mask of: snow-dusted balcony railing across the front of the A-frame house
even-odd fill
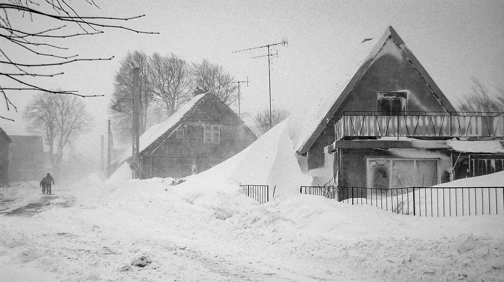
[[[504,137],[504,113],[346,111],[334,125],[336,140],[352,136]]]

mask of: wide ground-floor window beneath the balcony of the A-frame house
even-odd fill
[[[367,187],[403,188],[439,183],[436,159],[367,159]]]

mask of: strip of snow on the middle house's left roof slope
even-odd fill
[[[188,111],[190,111],[198,103],[198,101],[200,101],[208,93],[209,92],[195,96],[189,102],[185,103],[174,114],[168,117],[168,119],[166,119],[161,123],[155,124],[149,127],[149,129],[145,130],[145,132],[140,136],[139,151],[140,152],[144,151],[147,147],[149,147],[149,145],[154,143],[159,137],[161,137],[164,133],[166,133],[166,131],[172,129],[172,127],[175,126],[180,121],[180,119],[182,119],[182,117]],[[132,156],[131,152],[127,152],[124,154],[124,156],[122,156],[119,162],[124,162],[131,156]]]

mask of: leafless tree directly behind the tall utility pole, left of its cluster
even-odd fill
[[[115,75],[114,93],[115,104],[120,102],[121,111],[109,110],[112,115],[114,127],[123,139],[129,140],[132,136],[133,122],[133,93],[134,79],[133,69],[140,68],[140,105],[141,105],[141,123],[140,134],[142,134],[148,123],[149,106],[152,102],[152,90],[148,80],[149,58],[143,51],[128,52],[121,60],[118,72]]]

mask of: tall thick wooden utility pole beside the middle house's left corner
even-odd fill
[[[131,168],[133,171],[133,179],[140,178],[140,68],[133,69],[133,157]]]

